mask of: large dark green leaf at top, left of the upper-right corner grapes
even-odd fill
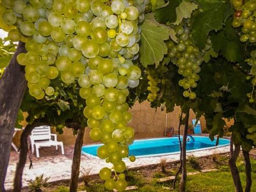
[[[226,19],[225,12],[228,10],[229,0],[197,0],[202,8],[202,12],[195,15],[191,34],[196,44],[203,48],[208,33],[211,30],[218,31],[222,28]]]

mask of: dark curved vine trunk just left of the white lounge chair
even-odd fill
[[[23,170],[27,161],[28,155],[28,136],[33,130],[35,125],[27,125],[27,127],[22,132],[20,136],[20,151],[19,151],[19,158],[16,166],[14,183],[13,183],[13,191],[20,192],[22,190],[22,175]]]

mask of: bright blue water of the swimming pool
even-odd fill
[[[181,138],[182,140],[182,138]],[[216,148],[216,139],[211,141],[209,137],[204,136],[188,136],[187,138],[187,151],[199,151],[205,149]],[[228,139],[219,139],[219,146],[224,147],[229,145]],[[98,145],[89,145],[82,147],[82,153],[85,155],[97,156]],[[136,157],[152,157],[161,155],[170,155],[180,152],[180,145],[178,137],[168,138],[156,138],[156,139],[142,139],[135,140],[134,143],[129,146],[129,154]]]

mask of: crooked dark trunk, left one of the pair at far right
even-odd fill
[[[234,150],[233,150],[233,141],[232,138],[230,139],[230,155],[229,155],[229,167],[231,171],[231,175],[233,178],[234,186],[236,187],[237,192],[243,192],[243,186],[241,183],[238,167],[237,167],[237,159],[240,153],[240,144],[234,145]]]

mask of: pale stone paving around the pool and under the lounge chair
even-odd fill
[[[187,153],[187,155],[193,154],[196,157],[203,157],[212,154],[229,152],[229,146],[209,149],[203,151],[196,151]],[[67,180],[70,178],[73,146],[65,147],[65,155],[61,155],[60,150],[56,152],[55,147],[42,148],[39,151],[40,157],[36,158],[32,155],[33,168],[29,169],[30,161],[27,160],[24,173],[23,173],[23,186],[27,185],[28,180],[34,179],[36,176],[44,174],[44,177],[50,177],[49,182]],[[124,159],[126,165],[130,168],[140,167],[152,164],[158,164],[159,157],[144,157],[138,158],[135,162],[130,162],[129,159]],[[167,162],[174,162],[179,160],[179,154],[164,156]],[[5,181],[6,189],[12,189],[13,177],[15,173],[16,162],[18,160],[18,153],[11,151],[10,161],[8,165],[7,177]],[[91,170],[91,174],[98,174],[99,170],[104,166],[110,166],[104,160],[90,157],[87,155],[81,156],[81,169]]]

